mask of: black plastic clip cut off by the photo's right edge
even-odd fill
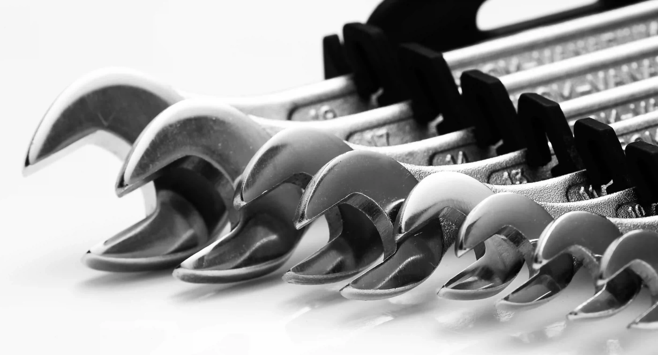
[[[628,143],[626,167],[644,207],[658,202],[658,147],[645,141]]]

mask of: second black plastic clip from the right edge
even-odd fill
[[[574,123],[574,137],[592,185],[613,181],[606,187],[607,193],[631,187],[624,149],[612,127],[594,118],[582,118]]]

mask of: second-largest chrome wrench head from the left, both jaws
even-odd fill
[[[232,208],[240,174],[266,139],[268,134],[240,111],[202,99],[171,106],[139,135],[118,179],[118,194],[153,179],[162,180],[176,191],[182,190],[182,195],[205,216],[209,233],[204,240],[189,245],[184,254],[175,256],[180,263],[194,254],[176,269],[177,277],[191,282],[228,282],[262,275],[284,262],[290,245],[301,237],[303,231],[297,231],[292,224],[299,191],[273,191],[270,199],[262,201],[268,208],[254,204],[240,213]],[[234,230],[215,241],[227,219]],[[186,238],[176,230],[166,233],[166,239],[151,243],[175,244]],[[243,248],[240,239],[258,239],[261,243],[259,247]],[[201,250],[209,241],[214,242]]]

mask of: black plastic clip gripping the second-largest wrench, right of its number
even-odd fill
[[[418,43],[405,43],[400,45],[398,56],[417,120],[429,122],[441,114],[443,121],[437,126],[441,134],[472,126],[442,53]]]

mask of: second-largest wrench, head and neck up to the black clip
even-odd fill
[[[176,110],[172,109],[174,106]],[[241,208],[240,212],[233,208],[234,188],[241,185],[240,173],[249,158],[270,137],[269,132],[286,127],[287,124],[297,126],[297,130],[301,131],[305,128],[315,128],[314,137],[317,139],[325,137],[325,143],[335,141],[339,145],[345,145],[336,136],[328,133],[349,137],[352,133],[373,127],[400,121],[413,122],[409,119],[411,110],[407,103],[334,120],[295,124],[247,116],[238,110],[230,110],[230,106],[222,105],[216,100],[211,102],[209,99],[187,99],[174,106],[155,118],[142,132],[141,138],[126,158],[122,177],[118,181],[118,191],[125,194],[151,179],[174,179],[174,183],[170,184],[175,185],[176,189],[187,188],[186,193],[193,193],[189,190],[194,189],[203,190],[201,187],[207,189],[194,192],[196,198],[193,204],[199,204],[197,208],[204,210],[206,219],[210,221],[211,236],[208,239],[209,243],[212,243],[190,260],[183,262],[174,272],[177,277],[191,282],[230,282],[240,278],[257,277],[285,262],[299,241],[302,231],[288,228],[292,225],[293,214],[301,196],[299,189],[290,185],[280,186],[275,189],[274,196],[263,197]],[[226,112],[218,111],[219,108]],[[225,123],[226,120],[230,124]],[[239,120],[242,121],[241,124],[236,123]],[[219,124],[228,125],[228,128],[222,129],[221,134],[217,131],[219,128],[215,127]],[[419,133],[431,131],[423,128],[428,126],[417,126],[415,131]],[[399,136],[403,137],[404,133],[405,131],[402,131]],[[195,164],[181,164],[179,159],[188,156],[195,156],[191,159]],[[169,177],[172,172],[181,171],[185,173],[178,177]],[[286,191],[293,192],[281,197]],[[207,197],[201,197],[203,193],[206,193]],[[215,225],[220,224],[216,224],[215,219],[219,216],[214,216],[213,211],[207,210],[207,205],[213,206],[215,211],[221,213],[228,210],[232,227],[235,227],[229,235],[218,239],[217,233],[220,230]],[[267,206],[272,210],[266,211]],[[247,223],[249,218],[257,223]],[[253,234],[259,236],[253,237]],[[167,239],[182,241],[185,238],[185,235],[169,235]],[[268,252],[264,252],[263,248]],[[180,263],[184,259],[177,260]]]

